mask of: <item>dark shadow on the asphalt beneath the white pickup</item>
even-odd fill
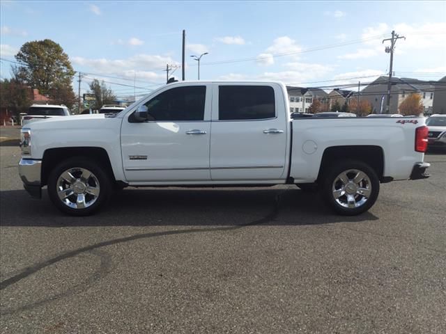
[[[2,226],[219,226],[317,225],[378,219],[333,214],[316,193],[299,189],[124,189],[113,193],[94,216],[61,214],[49,201],[33,200],[24,190],[0,192]]]

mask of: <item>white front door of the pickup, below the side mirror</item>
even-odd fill
[[[141,103],[148,106],[148,113],[152,111],[151,117],[155,120],[132,122],[132,112],[129,113],[130,120],[129,117],[124,118],[121,148],[124,173],[129,182],[210,181],[209,102],[212,92],[208,86],[206,102],[204,106],[201,104],[201,108],[204,108],[202,114],[194,109],[196,101],[191,100],[190,96],[178,101],[175,95],[178,94],[178,88],[168,87],[159,95]],[[174,93],[169,92],[169,88]],[[188,109],[192,105],[192,111],[187,114],[192,115],[190,118],[194,120],[187,120],[187,116],[178,112],[178,108],[183,108],[181,103],[189,103]],[[169,117],[181,120],[163,119]]]

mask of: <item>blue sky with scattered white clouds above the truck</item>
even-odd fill
[[[446,1],[3,1],[1,78],[24,44],[49,38],[82,72],[81,94],[102,79],[118,97],[165,84],[166,65],[187,80],[272,80],[302,87],[446,75]],[[172,74],[181,79],[181,68]],[[102,76],[102,77],[101,77]],[[126,86],[123,86],[126,85]],[[134,86],[137,88],[135,89]],[[77,79],[73,80],[77,92]]]

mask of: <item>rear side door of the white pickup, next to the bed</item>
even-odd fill
[[[221,86],[226,85],[215,84],[213,88],[215,98],[210,138],[212,180],[279,180],[284,175],[287,162],[286,116],[281,114],[286,106],[282,106],[278,99],[281,90],[269,86],[274,94],[270,97],[272,102],[268,104],[268,90],[259,88],[259,93],[255,93],[255,87],[259,86],[251,85],[254,88],[249,89],[244,88],[249,84],[233,86],[233,89],[226,89],[224,92],[224,98],[230,99],[232,105],[224,105],[220,101]],[[263,97],[256,96],[258,94]],[[222,109],[228,111],[226,115],[220,113]],[[272,117],[252,120],[228,119],[269,116]]]

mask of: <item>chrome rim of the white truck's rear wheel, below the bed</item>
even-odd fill
[[[362,170],[345,170],[334,179],[332,195],[341,207],[361,207],[371,196],[370,178]]]

